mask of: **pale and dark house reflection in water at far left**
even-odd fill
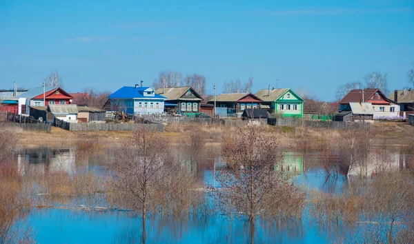
[[[17,165],[21,174],[29,172],[48,174],[65,172],[73,174],[80,170],[75,164],[74,148],[26,148],[18,151]]]

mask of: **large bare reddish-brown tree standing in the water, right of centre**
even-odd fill
[[[226,167],[217,171],[222,190],[219,208],[227,214],[246,216],[253,243],[257,218],[298,216],[304,194],[292,184],[290,174],[275,170],[282,163],[276,136],[249,126],[230,134],[223,145]]]

